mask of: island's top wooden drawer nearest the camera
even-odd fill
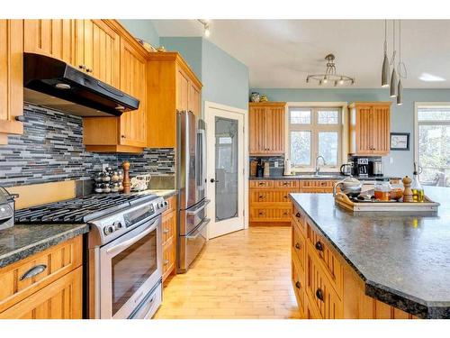
[[[342,297],[342,285],[343,285],[343,266],[341,261],[338,259],[338,253],[330,249],[329,242],[317,233],[311,224],[307,224],[307,242],[311,245],[308,251],[317,258],[317,260],[322,265],[326,274],[331,281],[331,285],[336,289],[339,297]]]

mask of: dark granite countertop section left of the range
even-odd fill
[[[0,230],[0,268],[88,231],[86,224],[15,224]]]

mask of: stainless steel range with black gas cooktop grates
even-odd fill
[[[85,317],[149,318],[162,300],[161,214],[155,195],[105,194],[19,210],[17,223],[86,223]]]

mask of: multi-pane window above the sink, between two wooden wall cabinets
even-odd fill
[[[289,108],[289,158],[294,169],[312,170],[316,158],[335,170],[341,163],[342,109],[340,107]],[[321,162],[320,162],[321,164]]]

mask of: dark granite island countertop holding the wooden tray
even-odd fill
[[[365,293],[422,318],[450,318],[450,188],[426,187],[437,215],[353,214],[331,194],[291,194],[365,281]]]

